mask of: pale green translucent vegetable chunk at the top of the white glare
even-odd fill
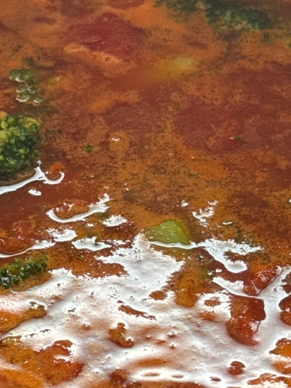
[[[190,240],[183,225],[175,220],[167,220],[155,227],[146,228],[145,236],[150,241],[157,241],[164,244],[190,244]]]

